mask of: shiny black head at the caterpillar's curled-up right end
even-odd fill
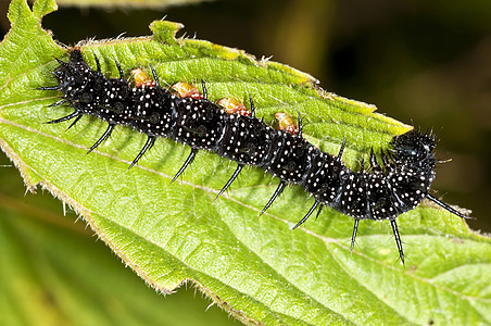
[[[411,165],[418,168],[435,167],[435,138],[417,130],[394,137],[391,142],[392,160],[395,165]]]

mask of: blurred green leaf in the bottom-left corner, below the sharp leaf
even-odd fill
[[[4,163],[0,153],[2,325],[230,325],[192,287],[164,297],[143,286],[51,196],[26,197]]]

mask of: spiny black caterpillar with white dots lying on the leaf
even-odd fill
[[[287,184],[299,185],[312,193],[315,203],[293,228],[304,223],[317,208],[318,214],[324,205],[330,206],[354,218],[353,250],[360,220],[389,220],[402,263],[404,253],[395,223],[400,214],[413,210],[428,198],[451,213],[468,218],[429,195],[437,163],[432,136],[412,130],[394,137],[392,150],[381,152],[382,164],[377,162],[372,150],[369,170],[363,170],[362,164],[362,171],[354,172],[341,160],[345,141],[336,156],[322,152],[302,137],[300,114],[298,131],[276,130],[254,116],[251,97],[248,114],[229,114],[207,100],[204,82],[201,97],[181,97],[159,85],[151,65],[153,80],[131,85],[124,78],[117,61],[119,78],[108,79],[101,73],[96,55],[95,59],[96,71],[84,61],[79,49],[71,50],[68,62],[56,59],[60,66],[53,75],[58,85],[39,88],[63,92],[63,99],[50,106],[67,103],[74,109],[72,114],[49,124],[75,118],[70,125],[72,127],[84,114],[109,123],[105,133],[88,152],[104,141],[116,125],[129,126],[148,136],[131,167],[153,146],[156,137],[172,138],[191,148],[191,153],[173,180],[192,162],[199,150],[215,152],[238,163],[217,197],[230,186],[243,166],[259,166],[280,179],[261,214]]]

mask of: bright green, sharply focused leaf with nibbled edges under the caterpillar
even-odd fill
[[[48,0],[33,11],[24,0],[11,3],[12,30],[0,46],[0,145],[30,189],[41,184],[73,206],[150,286],[171,293],[191,281],[248,324],[491,323],[491,241],[445,211],[424,204],[398,218],[404,267],[387,223],[363,222],[353,253],[353,220],[333,210],[290,231],[313,203],[299,187],[259,218],[277,180],[257,168],[247,168],[214,201],[235,168],[216,154],[200,152],[172,185],[189,153],[172,140],[159,139],[130,171],[146,136],[127,127],[85,155],[105,123],[84,117],[67,131],[67,124],[42,124],[71,112],[48,108],[60,93],[36,90],[55,84],[54,58],[67,60],[40,27],[54,9]],[[352,168],[372,147],[386,149],[411,128],[316,88],[313,77],[286,65],[175,38],[180,27],[158,21],[150,37],[80,47],[108,76],[117,76],[115,60],[125,73],[152,64],[162,85],[205,80],[211,100],[247,102],[251,93],[266,123],[279,111],[301,112],[305,137],[320,149],[337,153],[347,139],[343,160]]]

